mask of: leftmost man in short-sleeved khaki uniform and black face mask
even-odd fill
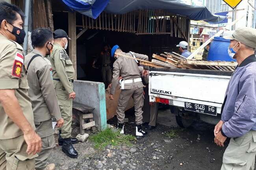
[[[25,36],[22,11],[0,2],[0,13],[0,170],[34,170],[41,138],[34,131],[23,49],[17,43]]]

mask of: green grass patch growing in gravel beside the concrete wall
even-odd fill
[[[94,143],[96,149],[104,149],[107,145],[118,146],[118,145],[132,145],[132,141],[136,138],[132,135],[122,135],[120,132],[113,132],[110,128],[99,132],[89,137],[89,140]]]

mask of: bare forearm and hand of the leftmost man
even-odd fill
[[[35,133],[32,126],[24,116],[19,101],[15,96],[15,89],[1,89],[0,102],[9,118],[20,128],[28,144],[26,152],[36,154],[41,151],[41,138]]]

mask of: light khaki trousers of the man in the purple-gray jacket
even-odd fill
[[[256,155],[256,131],[231,138],[223,155],[221,170],[254,170]]]

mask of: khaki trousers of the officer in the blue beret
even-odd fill
[[[130,98],[134,99],[135,121],[137,125],[141,125],[143,119],[143,87],[133,87],[132,89],[125,89],[121,91],[117,105],[117,119],[118,123],[124,123],[124,111],[127,107]]]

